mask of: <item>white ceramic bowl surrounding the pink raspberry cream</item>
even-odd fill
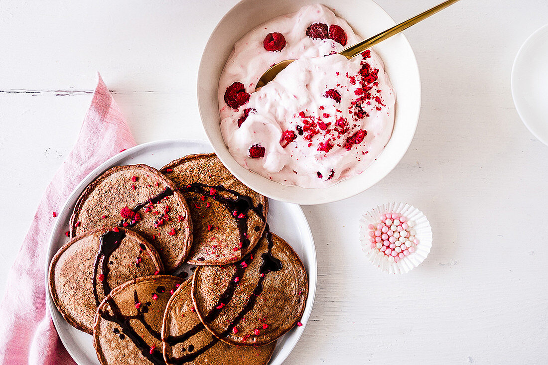
[[[405,155],[419,119],[420,77],[415,55],[403,34],[376,45],[396,93],[395,125],[384,151],[362,174],[326,189],[284,186],[240,166],[230,155],[220,129],[218,83],[221,71],[239,38],[276,16],[296,12],[307,4],[322,3],[347,20],[364,38],[395,25],[372,0],[242,0],[221,19],[206,44],[198,70],[198,107],[213,149],[244,184],[272,199],[297,204],[321,204],[360,193],[383,179]]]

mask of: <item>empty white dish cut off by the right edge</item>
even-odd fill
[[[523,124],[548,145],[548,25],[530,35],[518,51],[511,89]]]

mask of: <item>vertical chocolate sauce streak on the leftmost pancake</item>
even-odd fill
[[[99,246],[99,251],[95,256],[95,263],[93,264],[93,278],[92,278],[92,288],[93,296],[95,298],[95,305],[99,306],[99,294],[97,293],[97,273],[99,271],[99,261],[102,257],[101,273],[103,275],[103,280],[101,282],[103,293],[105,296],[109,295],[111,288],[109,286],[109,281],[107,280],[109,276],[109,258],[113,252],[120,246],[120,242],[125,238],[125,232],[119,230],[118,232],[109,231],[101,235],[99,240],[101,242]]]

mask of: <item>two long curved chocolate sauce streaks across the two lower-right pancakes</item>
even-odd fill
[[[242,320],[242,318],[253,309],[253,306],[255,305],[256,298],[261,294],[262,292],[262,282],[265,280],[266,274],[273,271],[281,270],[283,265],[280,260],[275,258],[272,255],[272,247],[274,246],[274,242],[272,241],[272,233],[270,232],[270,227],[267,224],[265,227],[265,235],[266,240],[268,242],[268,248],[265,253],[261,254],[262,258],[262,264],[259,269],[259,273],[261,276],[259,277],[259,282],[257,283],[257,286],[253,290],[252,295],[249,297],[246,305],[243,307],[242,311],[238,313],[236,318],[229,324],[229,326],[224,330],[224,332],[221,333],[222,337],[227,337],[230,332],[232,331],[232,328],[239,323],[239,321]],[[236,277],[242,277],[243,273],[246,271],[245,267],[242,267],[242,263],[249,262],[248,260],[251,258],[252,253],[247,254],[242,260],[238,261],[238,263],[233,264],[236,266],[236,272],[232,276],[232,280],[226,287],[224,293],[221,294],[217,304],[213,306],[213,309],[203,318],[203,322],[211,322],[215,320],[219,316],[219,313],[221,312],[221,309],[217,309],[217,307],[221,306],[221,304],[227,305],[230,300],[232,299],[232,296],[234,295],[234,292],[236,290],[236,283],[234,280]],[[262,275],[264,274],[264,275]],[[183,343],[187,339],[191,338],[193,335],[200,332],[202,329],[204,329],[204,325],[202,322],[199,322],[194,326],[193,328],[189,329],[184,334],[178,335],[178,336],[168,336],[168,338],[165,340],[170,346],[174,346],[176,344]],[[215,345],[219,340],[212,336],[212,341],[207,344],[206,346],[201,347],[200,349],[196,350],[196,352],[189,353],[185,356],[181,356],[178,358],[170,359],[170,361],[174,362],[175,364],[181,365],[186,362],[190,362],[195,360],[199,355],[202,355],[202,353],[209,350],[213,345]],[[190,346],[189,346],[190,348]]]

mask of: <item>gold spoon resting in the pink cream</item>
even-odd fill
[[[402,32],[409,28],[412,25],[417,24],[419,21],[422,21],[426,18],[428,18],[430,15],[434,15],[439,10],[447,8],[449,5],[453,5],[454,3],[458,2],[459,0],[447,0],[443,3],[436,5],[435,7],[426,10],[423,13],[420,13],[419,15],[413,16],[413,18],[410,18],[402,23],[399,23],[390,29],[385,30],[384,32],[379,33],[376,36],[373,36],[369,39],[366,39],[365,41],[361,41],[359,43],[356,43],[354,45],[351,45],[350,47],[347,47],[338,54],[341,54],[345,56],[347,59],[351,59],[353,56],[357,56],[358,54],[361,54],[364,50],[373,47],[375,44],[378,44],[380,42],[383,42],[385,39],[392,37],[393,35],[396,35],[399,32]],[[287,65],[289,65],[291,62],[295,60],[285,60],[278,62],[276,65],[270,67],[265,73],[262,74],[262,76],[259,78],[259,82],[255,86],[255,91],[259,88],[263,87],[270,81],[272,81],[273,78],[278,75],[280,71],[285,69]]]

